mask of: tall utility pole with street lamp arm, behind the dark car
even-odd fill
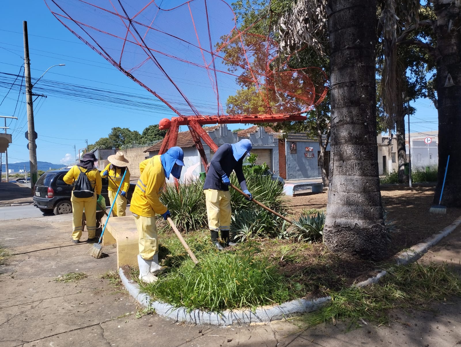
[[[32,101],[32,83],[30,81],[29,38],[27,35],[27,22],[23,21],[24,32],[24,75],[26,78],[27,102],[27,131],[29,133],[29,161],[30,161],[30,190],[34,194],[34,185],[37,182],[37,152],[35,144],[34,107]],[[26,172],[27,182],[27,172]]]

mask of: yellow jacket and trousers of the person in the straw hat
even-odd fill
[[[107,176],[101,175],[101,177],[104,177],[104,178],[109,177],[109,187],[107,188],[107,190],[108,190],[109,201],[111,202],[111,206],[112,206],[113,201],[115,200],[115,205],[112,208],[112,215],[114,217],[117,217],[117,216],[123,217],[125,215],[125,210],[126,210],[126,197],[122,197],[120,193],[122,191],[127,193],[128,189],[130,188],[130,170],[126,168],[123,185],[120,188],[118,195],[117,195],[118,186],[121,184],[122,177],[123,177],[122,170],[115,168],[112,164],[108,164],[106,168],[102,170],[102,172],[104,171],[108,171],[108,175]]]

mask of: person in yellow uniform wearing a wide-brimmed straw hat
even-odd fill
[[[130,188],[130,170],[127,168],[130,161],[125,158],[122,152],[117,152],[112,156],[108,156],[107,160],[110,164],[107,164],[101,177],[109,177],[109,187],[107,190],[111,206],[115,200],[115,205],[112,208],[112,215],[114,217],[123,217],[126,210],[126,193],[128,192],[128,188]],[[125,170],[125,179],[123,180],[119,195],[117,195],[118,186],[122,184],[122,177]]]

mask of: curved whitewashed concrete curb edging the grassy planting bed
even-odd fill
[[[426,253],[431,246],[436,245],[441,239],[449,235],[456,227],[461,224],[461,216],[458,217],[448,227],[443,228],[439,233],[432,235],[425,242],[414,245],[410,251],[403,251],[397,255],[397,265],[405,265],[418,260]],[[229,325],[249,325],[252,323],[268,323],[274,320],[281,320],[290,316],[299,315],[319,309],[322,305],[330,302],[331,297],[306,300],[296,299],[285,302],[281,305],[264,306],[254,311],[250,310],[226,310],[220,313],[193,310],[188,312],[184,307],[174,307],[160,301],[153,301],[147,294],[141,293],[135,281],[129,280],[122,268],[118,269],[120,279],[130,295],[142,306],[151,307],[160,316],[175,319],[178,322],[193,324],[210,324],[217,326]],[[386,270],[381,270],[377,275],[365,281],[354,284],[356,287],[365,287],[372,283],[377,283],[384,275]]]

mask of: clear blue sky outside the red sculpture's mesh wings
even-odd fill
[[[39,78],[48,67],[56,64],[35,85],[34,91],[53,84],[66,83],[98,90],[118,91],[143,96],[150,103],[155,97],[119,72],[108,61],[77,39],[60,24],[41,0],[5,0],[0,13],[0,72],[18,74],[24,63],[23,21],[29,31],[29,48],[32,78]],[[21,71],[22,76],[22,71]],[[0,81],[4,75],[0,75]],[[20,78],[21,79],[21,78]],[[49,89],[48,89],[49,90]],[[27,130],[25,95],[0,87],[0,114],[18,117],[7,120],[13,143],[8,149],[9,162],[29,161],[29,151],[24,132]],[[24,89],[23,89],[24,91]],[[198,88],[198,93],[200,90]],[[43,94],[47,94],[43,92]],[[159,108],[127,109],[101,101],[83,101],[61,93],[48,93],[34,102],[35,131],[38,133],[37,160],[52,163],[71,162],[75,158],[74,145],[85,147],[85,140],[94,143],[106,137],[114,126],[142,130],[174,114]],[[437,110],[429,100],[412,103],[417,113],[410,119],[411,132],[437,130]],[[3,119],[0,119],[3,126]],[[229,125],[229,128],[246,127]]]

